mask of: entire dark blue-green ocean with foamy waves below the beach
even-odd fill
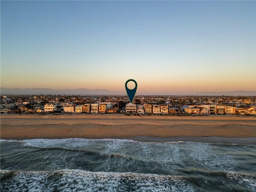
[[[255,192],[256,145],[1,140],[1,192]]]

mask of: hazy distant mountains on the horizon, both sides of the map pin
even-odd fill
[[[126,92],[110,91],[106,89],[64,89],[54,90],[47,88],[32,88],[32,89],[19,89],[19,88],[0,88],[0,94],[12,95],[34,95],[34,94],[49,94],[49,95],[126,95]],[[159,94],[161,95],[161,93]],[[256,96],[254,91],[230,91],[230,92],[201,92],[198,96]]]

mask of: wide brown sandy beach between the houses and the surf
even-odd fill
[[[256,137],[256,118],[241,116],[1,114],[0,119],[1,139]]]

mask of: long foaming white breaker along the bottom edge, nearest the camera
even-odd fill
[[[0,174],[1,191],[153,192],[159,189],[160,186],[175,192],[195,191],[190,179],[184,176],[160,176],[130,172],[88,172],[84,170],[58,170],[55,172],[10,172],[1,170]]]

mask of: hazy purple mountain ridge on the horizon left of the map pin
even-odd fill
[[[49,94],[49,95],[122,95],[125,93],[110,91],[106,89],[64,89],[54,90],[47,88],[32,88],[32,89],[20,89],[20,88],[0,88],[0,94],[16,94],[16,95],[33,95],[33,94]]]

